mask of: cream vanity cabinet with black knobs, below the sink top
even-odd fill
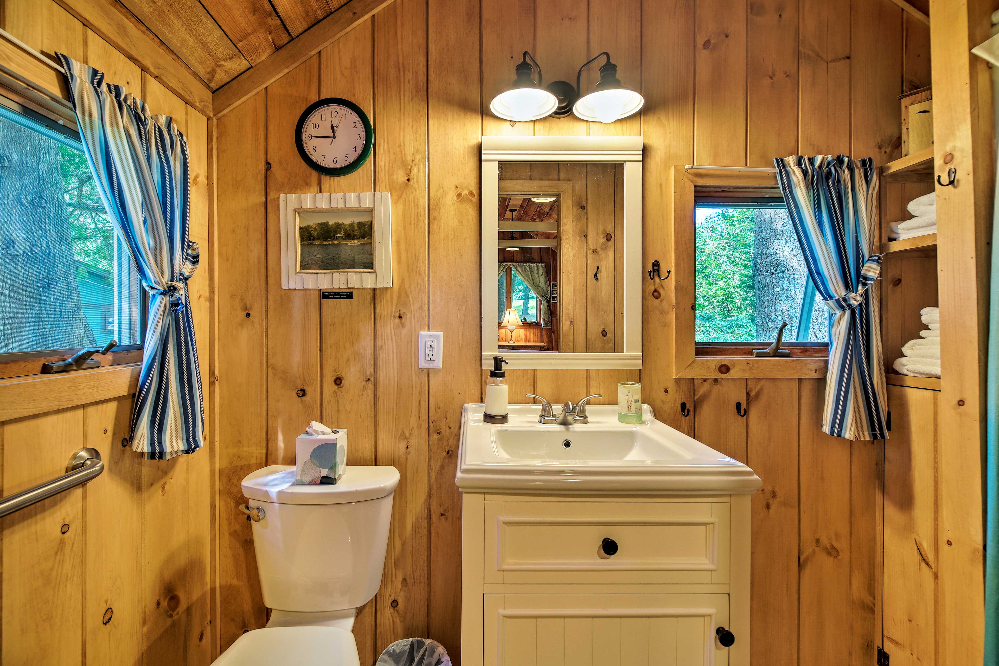
[[[749,495],[469,492],[463,507],[463,664],[749,663]]]

